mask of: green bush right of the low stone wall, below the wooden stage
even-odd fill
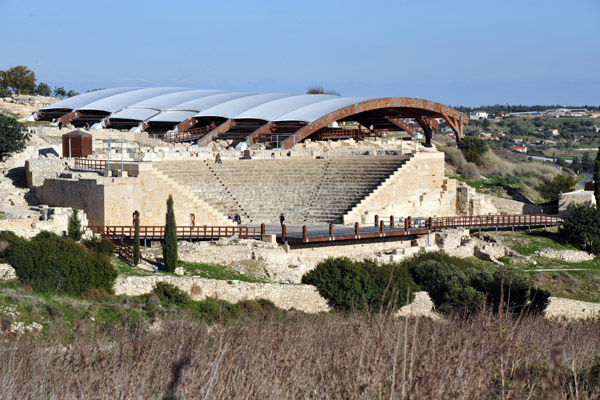
[[[417,289],[406,268],[346,257],[328,258],[302,277],[339,311],[382,311],[412,301]]]

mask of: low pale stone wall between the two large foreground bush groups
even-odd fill
[[[139,296],[150,293],[157,282],[168,282],[190,294],[193,300],[217,298],[230,303],[242,300],[267,299],[277,307],[292,308],[306,313],[329,311],[327,301],[310,285],[282,285],[277,283],[248,283],[198,277],[165,275],[120,276],[115,282],[115,294]]]

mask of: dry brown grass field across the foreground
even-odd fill
[[[82,323],[64,345],[0,344],[0,398],[590,398],[596,321],[482,314],[469,321],[387,315],[253,320],[159,330]],[[598,387],[595,387],[598,389]]]

